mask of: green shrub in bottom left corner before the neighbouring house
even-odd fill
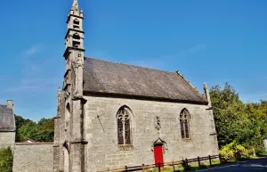
[[[11,148],[0,149],[0,171],[12,172],[12,150]]]

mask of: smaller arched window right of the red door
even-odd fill
[[[190,112],[183,109],[180,113],[181,135],[183,139],[190,139]]]

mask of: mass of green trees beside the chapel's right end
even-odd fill
[[[229,83],[223,89],[213,86],[210,95],[219,146],[222,148],[235,140],[248,149],[255,147],[257,153],[263,152],[263,139],[267,136],[267,102],[244,103]]]

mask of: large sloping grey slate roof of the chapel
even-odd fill
[[[120,94],[174,102],[207,104],[204,96],[176,72],[85,58],[84,92]]]

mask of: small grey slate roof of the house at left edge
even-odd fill
[[[14,131],[15,119],[12,109],[7,105],[0,104],[0,131]]]

